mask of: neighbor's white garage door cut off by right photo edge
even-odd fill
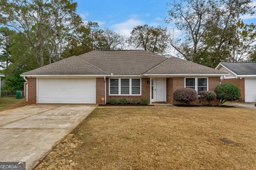
[[[245,102],[256,102],[256,79],[244,80]]]

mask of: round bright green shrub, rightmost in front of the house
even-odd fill
[[[233,83],[223,83],[215,88],[217,99],[223,104],[227,101],[235,101],[241,98],[240,88]]]

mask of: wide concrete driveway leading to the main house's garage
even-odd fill
[[[95,106],[37,105],[0,112],[0,161],[34,168]]]

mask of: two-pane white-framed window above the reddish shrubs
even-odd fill
[[[185,78],[185,87],[194,88],[197,92],[208,90],[208,78]]]

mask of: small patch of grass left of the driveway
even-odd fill
[[[16,99],[14,97],[0,98],[0,111],[14,109],[26,105],[26,99]]]

